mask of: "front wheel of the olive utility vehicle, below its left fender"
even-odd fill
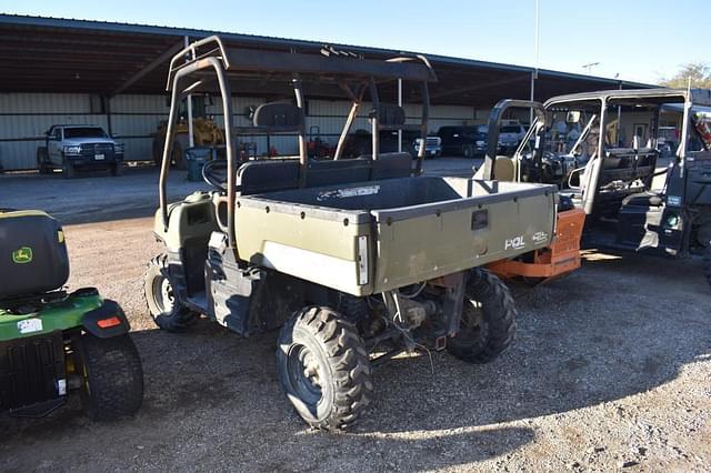
[[[151,260],[143,281],[146,302],[156,325],[168,332],[182,332],[199,315],[182,305],[173,293],[173,283],[168,275],[167,256]]]

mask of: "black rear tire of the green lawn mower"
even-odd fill
[[[92,421],[112,421],[136,413],[143,401],[143,369],[131,338],[78,339],[81,400]]]

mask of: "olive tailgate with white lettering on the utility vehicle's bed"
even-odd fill
[[[375,278],[382,292],[512,258],[550,244],[555,188],[495,183],[498,189],[444,202],[373,210]],[[481,192],[481,190],[479,191]]]

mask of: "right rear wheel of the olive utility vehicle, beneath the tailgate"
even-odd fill
[[[515,315],[509,288],[487,270],[472,270],[459,333],[447,341],[448,351],[469,363],[495,360],[513,341]]]

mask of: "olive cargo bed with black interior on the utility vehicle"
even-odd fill
[[[551,241],[555,187],[419,177],[240,197],[239,256],[353,295]]]

